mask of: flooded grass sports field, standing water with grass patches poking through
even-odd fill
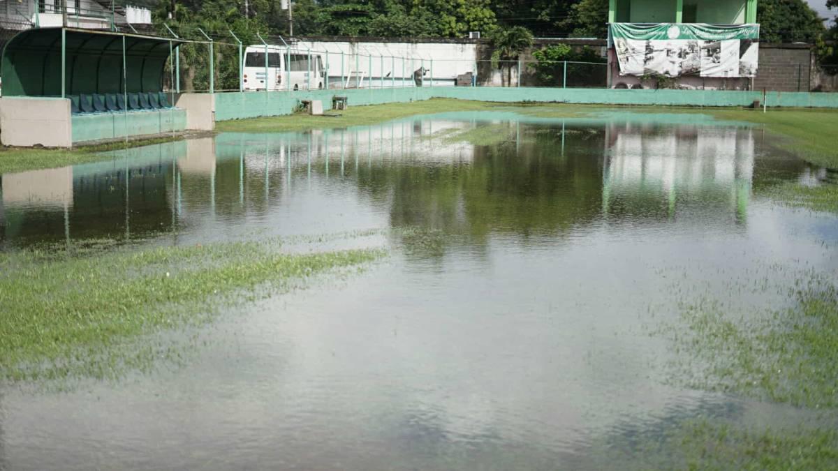
[[[835,179],[761,127],[624,111],[3,174],[0,306],[80,320],[7,321],[0,468],[835,464],[838,215],[776,190]]]

